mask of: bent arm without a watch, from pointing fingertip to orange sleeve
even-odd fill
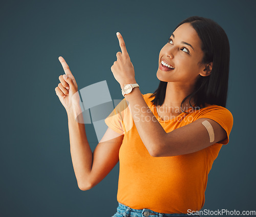
[[[78,115],[81,108],[76,80],[66,61],[62,57],[59,61],[65,75],[59,76],[55,91],[68,114],[70,152],[77,184],[81,190],[88,190],[104,179],[119,161],[123,135],[108,128],[92,153],[83,118]]]

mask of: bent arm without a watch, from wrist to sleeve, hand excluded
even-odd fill
[[[119,161],[123,135],[108,128],[92,153],[84,124],[68,113],[70,152],[78,187],[89,190],[105,178]]]

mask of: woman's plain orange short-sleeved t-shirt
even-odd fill
[[[208,173],[222,144],[229,141],[233,116],[222,106],[206,104],[205,108],[188,114],[183,112],[164,121],[150,102],[154,99],[149,99],[151,94],[142,96],[165,132],[173,131],[199,118],[210,118],[222,126],[227,138],[194,153],[152,157],[145,148],[131,110],[123,99],[105,119],[106,125],[111,129],[124,134],[119,150],[117,201],[133,209],[147,208],[161,213],[200,210],[205,201]]]

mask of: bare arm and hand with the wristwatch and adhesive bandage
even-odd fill
[[[122,88],[124,84],[136,83],[133,64],[127,53],[121,34],[117,37],[122,52],[117,53],[117,61],[111,67],[115,79]],[[155,115],[148,108],[139,88],[134,88],[124,95],[132,112],[135,126],[148,153],[154,157],[177,156],[193,153],[207,148],[211,144],[222,141],[227,137],[226,131],[215,120],[200,118],[193,123],[166,133]],[[215,134],[210,142],[207,129],[202,122],[207,120]]]

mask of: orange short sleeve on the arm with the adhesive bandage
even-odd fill
[[[215,120],[215,122],[217,122],[227,133],[227,137],[224,140],[219,141],[218,143],[228,143],[229,134],[233,126],[233,115],[228,109],[222,106],[209,107],[208,109],[203,109],[203,111],[199,113],[197,119],[199,118],[209,118]]]

